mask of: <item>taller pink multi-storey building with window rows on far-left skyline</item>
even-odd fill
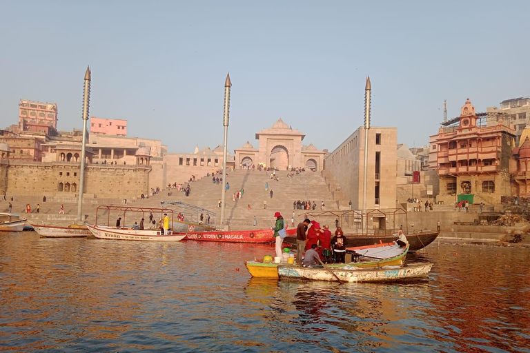
[[[57,131],[57,104],[20,100],[19,132],[34,131],[48,134],[50,128]]]

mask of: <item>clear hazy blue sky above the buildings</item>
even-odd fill
[[[530,1],[2,2],[0,128],[19,100],[57,103],[59,130],[90,116],[126,119],[130,137],[170,153],[228,150],[281,118],[303,144],[333,151],[364,124],[419,147],[469,97],[477,112],[530,96]]]

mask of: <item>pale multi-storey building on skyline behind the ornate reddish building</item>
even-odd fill
[[[519,143],[522,130],[524,130],[530,121],[530,97],[507,99],[500,102],[500,108],[489,107],[487,108],[487,112],[500,113],[498,117],[491,120],[491,125],[495,125],[498,119],[503,119],[513,124],[516,133],[516,143]]]

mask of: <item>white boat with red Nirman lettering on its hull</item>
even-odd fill
[[[175,234],[168,231],[167,235],[160,230],[134,230],[132,228],[112,228],[100,225],[86,225],[97,239],[129,240],[129,241],[181,241],[186,234]]]

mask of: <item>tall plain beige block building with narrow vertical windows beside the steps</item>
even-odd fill
[[[368,164],[364,165],[364,128],[358,128],[325,160],[324,177],[335,186],[340,206],[363,209],[364,168],[367,169],[366,208],[395,208],[397,128],[369,129]]]

